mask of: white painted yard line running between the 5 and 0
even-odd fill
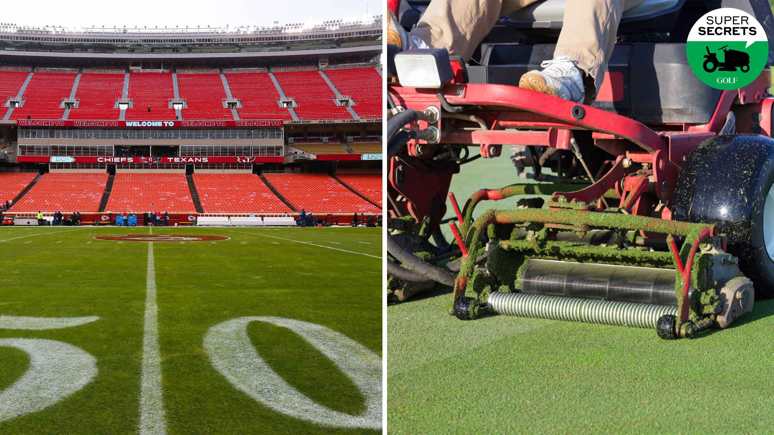
[[[153,234],[153,229],[150,230]],[[146,317],[142,337],[142,387],[140,390],[140,435],[166,433],[161,390],[161,357],[159,355],[159,306],[156,305],[156,266],[153,242],[148,243],[148,278],[146,279]]]

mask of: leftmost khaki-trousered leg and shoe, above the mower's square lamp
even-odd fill
[[[467,62],[484,37],[502,16],[531,5],[537,0],[433,0],[420,22],[403,40],[396,23],[388,24],[387,43],[402,46],[445,48],[451,56]],[[392,29],[395,28],[395,29]]]

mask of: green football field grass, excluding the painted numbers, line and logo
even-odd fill
[[[0,338],[73,344],[93,355],[98,366],[98,375],[83,389],[37,413],[0,421],[0,433],[138,432],[148,243],[94,237],[149,232],[0,228],[5,254],[0,314],[100,317],[49,331],[0,329]],[[203,338],[210,327],[236,317],[287,317],[328,327],[382,355],[378,228],[153,228],[153,233],[230,238],[153,243],[168,433],[377,432],[320,426],[256,402],[215,370]],[[365,410],[353,382],[293,331],[253,322],[248,337],[272,370],[310,399],[342,413]],[[27,368],[25,352],[0,347],[0,392]]]

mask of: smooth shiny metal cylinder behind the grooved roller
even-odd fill
[[[529,259],[522,293],[677,306],[673,269]]]

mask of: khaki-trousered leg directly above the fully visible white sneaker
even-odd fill
[[[567,56],[583,70],[586,101],[592,101],[608,70],[618,22],[643,0],[567,0],[553,57]]]

